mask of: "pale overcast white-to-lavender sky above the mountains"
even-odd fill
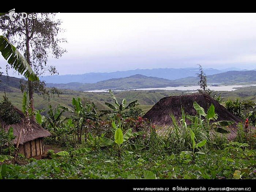
[[[256,68],[255,13],[58,13],[60,75],[133,69]],[[0,58],[1,66],[5,60]],[[3,68],[3,67],[2,67]]]

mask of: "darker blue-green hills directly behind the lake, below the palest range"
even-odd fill
[[[194,71],[196,73],[196,71]],[[156,73],[157,75],[157,73]],[[256,84],[256,70],[250,71],[227,71],[213,75],[207,75],[207,83],[209,84]],[[56,87],[58,89],[70,90],[127,90],[139,88],[156,88],[156,87],[177,87],[197,85],[198,77],[186,77],[181,79],[164,79],[154,76],[145,76],[136,74],[123,78],[112,78],[96,83],[80,83],[70,82],[62,83],[47,83],[47,87]],[[0,76],[0,90],[7,92],[17,92],[20,89],[20,79],[15,77]]]

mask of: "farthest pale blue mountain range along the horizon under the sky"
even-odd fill
[[[217,69],[204,69],[204,73],[207,76],[223,73],[230,70],[239,70],[236,68],[229,68],[225,70]],[[111,73],[85,73],[82,75],[54,75],[54,76],[43,76],[40,77],[42,81],[46,83],[97,83],[99,81],[104,81],[108,79],[118,79],[129,76],[134,76],[140,74],[148,77],[158,77],[163,79],[175,80],[180,78],[186,78],[189,76],[196,76],[196,73],[199,72],[199,68],[183,68],[183,69],[174,69],[174,68],[159,68],[159,69],[137,69],[137,70],[128,70],[128,71],[116,71]]]

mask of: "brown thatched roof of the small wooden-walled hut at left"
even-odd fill
[[[46,129],[42,128],[40,125],[38,125],[35,121],[30,121],[31,126],[26,126],[25,122],[25,116],[19,109],[15,108],[15,111],[20,115],[21,120],[19,123],[8,125],[5,128],[5,131],[8,131],[10,127],[13,128],[13,134],[15,136],[15,140],[13,141],[14,144],[17,144],[19,136],[20,136],[20,142],[19,144],[24,144],[28,141],[35,140],[40,137],[48,137],[51,134]],[[0,119],[1,120],[1,119]],[[2,123],[2,121],[1,121]],[[3,123],[2,123],[3,125]],[[22,133],[20,134],[20,132]]]

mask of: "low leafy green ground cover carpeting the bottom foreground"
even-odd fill
[[[237,151],[236,153],[233,153]],[[242,179],[256,178],[256,151],[236,145],[195,157],[179,154],[154,155],[125,151],[118,160],[109,150],[85,155],[59,156],[50,160],[33,160],[25,166],[3,164],[0,178],[5,179],[128,179],[144,178],[152,172],[157,179]],[[38,169],[40,167],[40,169]],[[236,173],[236,174],[235,174]]]

